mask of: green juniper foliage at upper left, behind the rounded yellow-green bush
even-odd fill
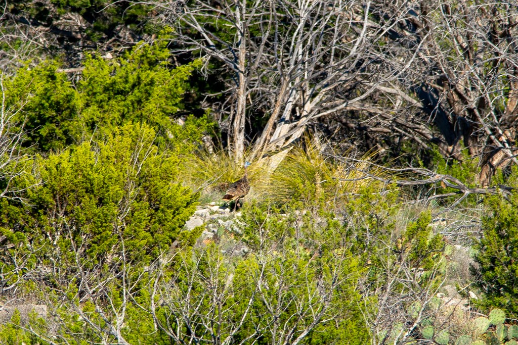
[[[53,62],[20,68],[5,89],[7,106],[23,110],[18,121],[28,132],[25,145],[59,151],[126,122],[140,122],[190,151],[188,144],[199,142],[209,128],[206,118],[191,118],[194,126],[182,128],[172,116],[182,109],[188,78],[200,62],[172,68],[166,45],[165,39],[138,44],[112,62],[92,54],[74,83]]]

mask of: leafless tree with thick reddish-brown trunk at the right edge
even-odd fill
[[[391,17],[397,12],[399,18]],[[404,8],[381,3],[373,23],[392,23],[387,39],[398,48],[393,61],[410,64],[403,83],[380,89],[396,98],[406,94],[406,107],[418,110],[394,107],[396,119],[403,120],[400,129],[418,142],[435,141],[446,158],[480,158],[482,186],[490,184],[495,169],[516,162],[517,12],[516,4],[498,2],[420,2]]]

